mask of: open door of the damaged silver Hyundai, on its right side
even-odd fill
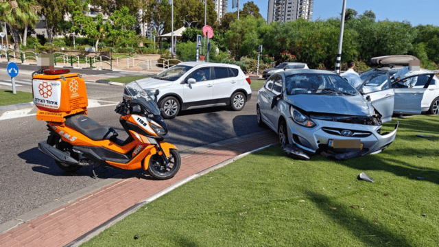
[[[385,81],[385,84],[383,85],[381,90],[373,91],[370,93],[363,92],[363,86],[373,78],[367,78],[358,88],[358,91],[361,92],[363,97],[365,97],[366,99],[367,97],[370,97],[370,103],[372,103],[372,106],[375,108],[375,110],[377,110],[379,114],[381,114],[381,121],[383,123],[392,121],[392,114],[394,112],[394,91],[390,86],[390,74],[388,73],[388,71],[384,73],[387,74],[387,80]]]

